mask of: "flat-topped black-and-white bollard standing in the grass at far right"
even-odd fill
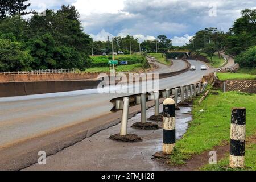
[[[230,132],[230,159],[231,168],[245,167],[245,137],[246,137],[246,109],[232,109]]]

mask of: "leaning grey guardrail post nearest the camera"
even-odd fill
[[[120,131],[121,136],[127,135],[129,104],[130,104],[130,98],[129,97],[123,98],[123,113],[122,113],[122,123],[121,123],[121,131]]]

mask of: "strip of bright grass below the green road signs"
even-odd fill
[[[123,65],[115,68],[116,72],[129,72],[129,71],[143,71],[143,65],[141,63]],[[85,73],[109,73],[110,67],[94,67],[84,71]]]

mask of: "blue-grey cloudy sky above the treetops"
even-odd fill
[[[133,35],[140,41],[160,34],[175,46],[188,43],[199,30],[217,27],[228,31],[245,8],[256,1],[241,0],[28,0],[31,9],[59,9],[75,5],[86,34],[94,40]]]

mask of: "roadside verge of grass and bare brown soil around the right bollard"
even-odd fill
[[[197,170],[209,162],[209,152],[216,151],[218,160],[226,159],[229,154],[230,121],[233,107],[246,107],[246,136],[250,138],[256,134],[255,94],[241,92],[222,93],[214,89],[201,104],[200,97],[193,101],[193,121],[184,137],[177,141],[175,152],[171,155],[171,164],[184,164],[174,166],[177,170]],[[249,139],[248,139],[249,140]],[[246,146],[246,167],[256,168],[255,146]],[[250,162],[248,162],[250,160]],[[206,169],[230,169],[228,158],[220,163],[223,168],[211,166]]]

